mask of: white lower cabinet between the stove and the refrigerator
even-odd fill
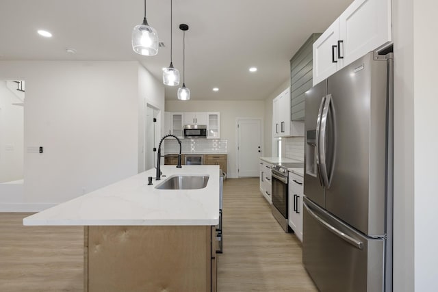
[[[302,176],[289,172],[289,226],[302,242]]]

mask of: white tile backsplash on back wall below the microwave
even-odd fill
[[[181,148],[186,153],[227,154],[227,139],[181,139]],[[179,144],[175,139],[164,140],[164,154],[178,153]]]

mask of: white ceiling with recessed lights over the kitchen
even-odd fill
[[[261,100],[289,77],[289,59],[352,0],[174,0],[173,64],[193,100]],[[170,0],[146,0],[146,18],[166,47],[145,57],[131,49],[143,0],[1,0],[0,60],[107,60],[142,63],[157,79],[170,64]],[[47,29],[53,38],[42,38]],[[66,53],[66,48],[77,51]],[[257,66],[255,73],[248,72]],[[182,84],[182,82],[181,82]],[[213,92],[214,87],[220,88]],[[166,86],[166,99],[177,99]]]

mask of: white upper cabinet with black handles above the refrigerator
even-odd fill
[[[391,0],[355,0],[313,44],[313,85],[391,40]]]

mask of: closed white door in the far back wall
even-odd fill
[[[237,176],[259,176],[261,120],[237,120]]]

